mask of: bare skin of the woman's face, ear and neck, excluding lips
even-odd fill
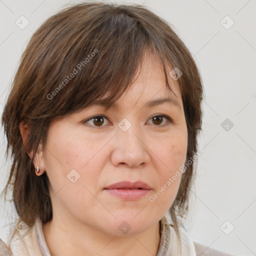
[[[51,123],[34,166],[39,166],[38,175],[46,171],[50,180],[53,218],[43,225],[43,233],[52,256],[156,255],[158,221],[173,203],[181,175],[153,202],[149,196],[185,162],[187,149],[180,91],[177,81],[170,82],[180,108],[170,102],[144,106],[150,99],[169,96],[160,64],[147,55],[137,79],[116,101],[118,108],[91,105]],[[93,120],[81,122],[100,114],[107,117],[101,126]],[[157,114],[173,122],[164,117],[154,121]],[[123,118],[131,123],[125,132],[117,125]],[[20,131],[24,141],[23,123]],[[80,175],[74,183],[67,178],[72,169]],[[103,189],[121,180],[142,180],[152,190],[125,200]],[[124,220],[130,226],[125,234],[118,228]]]

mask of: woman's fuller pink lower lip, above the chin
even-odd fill
[[[135,200],[148,194],[151,189],[105,189],[108,193],[125,200]]]

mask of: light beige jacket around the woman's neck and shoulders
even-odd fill
[[[173,250],[173,247],[175,247],[173,246],[175,243],[173,242],[174,237],[171,229],[168,228],[169,223],[165,217],[161,219],[160,224],[161,236],[156,256],[176,256],[176,251]],[[185,244],[189,244],[189,239],[185,236],[182,238]],[[182,250],[182,255],[187,256],[234,256],[191,240],[189,246],[182,247]],[[7,244],[0,239],[0,256],[51,256],[44,239],[40,218],[38,217],[35,220],[34,225],[27,232],[14,236]]]

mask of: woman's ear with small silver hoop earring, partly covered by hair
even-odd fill
[[[22,137],[23,144],[25,144],[25,141],[26,141],[27,136],[29,134],[29,127],[28,127],[28,125],[24,121],[21,121],[19,123],[19,130],[20,130],[20,134],[21,134],[21,137]],[[33,152],[27,152],[27,154],[29,155],[30,158],[32,158],[32,153]],[[34,157],[33,163],[34,163],[35,167],[39,166],[40,170],[44,170],[44,164],[43,164],[43,159],[42,159],[42,145],[41,145],[41,143],[38,146],[38,152],[36,152],[36,155]],[[40,173],[42,173],[42,171],[40,171]]]

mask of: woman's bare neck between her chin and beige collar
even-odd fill
[[[51,256],[155,256],[160,242],[159,222],[136,235],[116,236],[53,214],[42,229]]]

